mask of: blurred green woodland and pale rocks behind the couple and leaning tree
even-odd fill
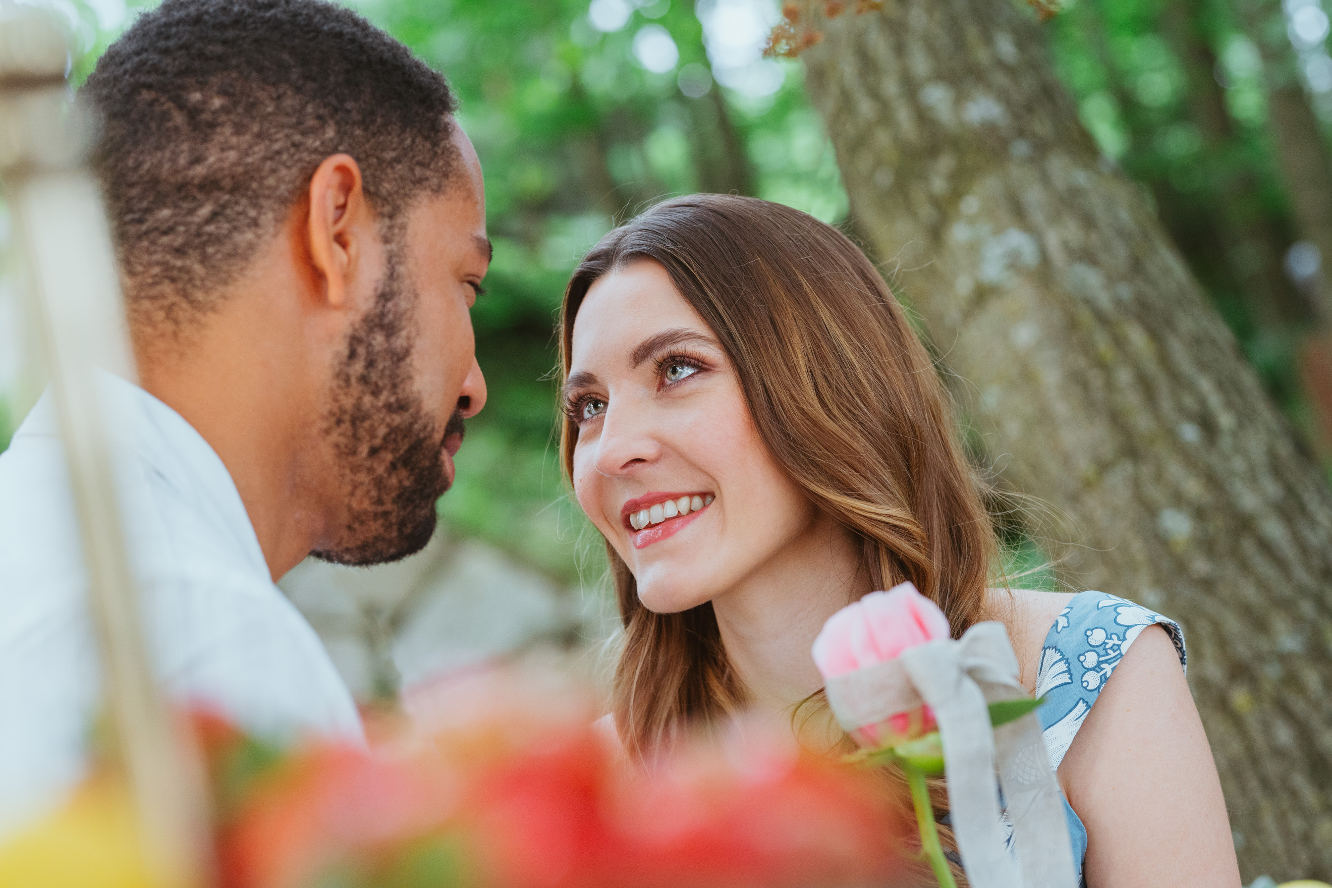
[[[80,77],[139,11],[124,0],[55,5],[80,35]],[[356,694],[374,699],[535,643],[595,651],[610,632],[599,538],[569,498],[554,431],[553,318],[589,246],[651,202],[698,190],[781,201],[852,234],[854,222],[801,64],[762,55],[781,20],[774,0],[353,5],[457,91],[486,170],[496,245],[473,314],[490,399],[469,423],[437,538],[398,564],[305,563],[282,582]],[[1317,188],[1327,169],[1292,178],[1277,146],[1325,156],[1329,21],[1319,0],[1285,0],[1261,21],[1244,8],[1070,0],[1044,33],[1100,152],[1139,184],[1300,441],[1327,465],[1332,389],[1320,379],[1332,378],[1332,355],[1311,333],[1324,325],[1332,192]],[[1273,52],[1289,80],[1269,91],[1264,53]],[[13,266],[0,266],[0,450],[41,385],[15,288]],[[1039,560],[1030,543],[1011,542]]]

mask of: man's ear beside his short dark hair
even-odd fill
[[[356,277],[364,272],[366,238],[374,218],[361,189],[361,168],[350,154],[324,158],[310,177],[306,236],[312,272],[321,278],[317,294],[328,306],[342,308]]]

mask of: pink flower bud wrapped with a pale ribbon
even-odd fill
[[[829,618],[814,639],[814,664],[825,680],[895,659],[916,644],[950,638],[948,618],[911,583],[870,592]],[[851,732],[863,747],[898,746],[935,730],[934,712],[922,706]]]

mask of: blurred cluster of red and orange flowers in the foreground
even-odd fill
[[[284,754],[201,716],[222,884],[892,884],[902,823],[863,772],[739,732],[630,764],[585,702],[531,687],[473,676],[434,695],[430,734],[370,751]]]

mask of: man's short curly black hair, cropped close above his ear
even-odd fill
[[[136,325],[206,313],[330,154],[356,158],[385,222],[457,162],[445,79],[322,0],[165,0],[83,95]]]

